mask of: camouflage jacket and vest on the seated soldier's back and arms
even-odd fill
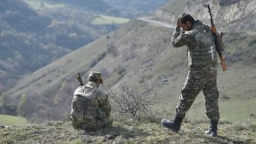
[[[88,82],[75,90],[71,115],[78,121],[103,120],[110,116],[110,111],[108,96],[97,88],[95,82]]]

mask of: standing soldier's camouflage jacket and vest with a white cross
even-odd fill
[[[188,65],[208,65],[217,63],[217,52],[211,27],[202,24],[199,20],[194,22],[190,31],[181,33],[176,27],[171,39],[175,47],[187,46]]]

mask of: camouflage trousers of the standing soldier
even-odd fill
[[[219,92],[217,89],[216,64],[190,66],[186,82],[181,90],[179,104],[176,107],[178,117],[184,118],[196,96],[203,91],[206,115],[211,120],[219,120]]]

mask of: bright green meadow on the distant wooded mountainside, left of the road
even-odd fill
[[[117,18],[113,16],[100,15],[98,18],[95,18],[91,24],[100,25],[100,24],[125,24],[129,21],[128,18]]]

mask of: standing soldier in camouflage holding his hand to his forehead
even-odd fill
[[[181,27],[184,32],[181,33]],[[205,98],[206,115],[211,120],[206,135],[217,136],[219,121],[219,105],[217,90],[217,52],[211,27],[195,21],[190,14],[181,14],[177,20],[177,27],[173,32],[172,45],[174,47],[187,46],[188,75],[181,90],[179,104],[176,107],[174,120],[161,120],[163,126],[178,132],[181,123],[194,99],[201,90]]]

